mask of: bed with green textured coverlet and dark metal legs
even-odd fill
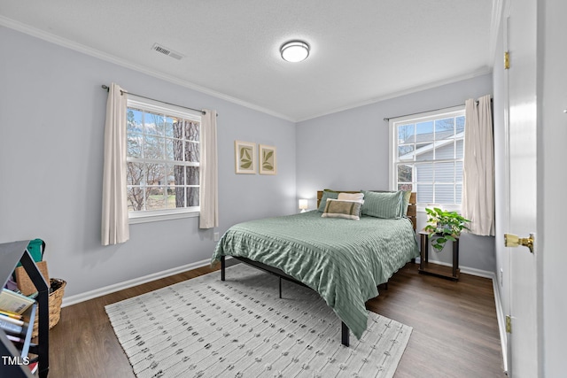
[[[378,285],[419,255],[416,193],[364,191],[365,204],[351,209],[358,220],[330,213],[330,205],[349,202],[338,200],[338,193],[357,192],[320,191],[317,210],[232,226],[217,243],[212,262],[221,261],[222,281],[225,256],[231,256],[278,275],[280,296],[281,279],[314,289],[342,320],[341,343],[348,346],[349,329],[360,339],[367,327],[365,303],[377,297]],[[375,197],[399,199],[400,216],[369,214],[369,199]],[[392,214],[397,211],[393,200],[387,204]]]

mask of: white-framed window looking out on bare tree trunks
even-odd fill
[[[198,213],[201,118],[133,95],[127,117],[130,221]]]

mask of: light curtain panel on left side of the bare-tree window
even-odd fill
[[[101,242],[124,243],[130,237],[126,193],[126,92],[112,83],[108,89],[105,122],[105,164]]]

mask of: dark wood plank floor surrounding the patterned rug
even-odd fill
[[[492,281],[462,274],[450,282],[418,274],[417,267],[400,269],[367,304],[414,328],[395,377],[505,377]],[[49,377],[134,377],[105,305],[213,270],[198,268],[63,308],[50,330]]]

